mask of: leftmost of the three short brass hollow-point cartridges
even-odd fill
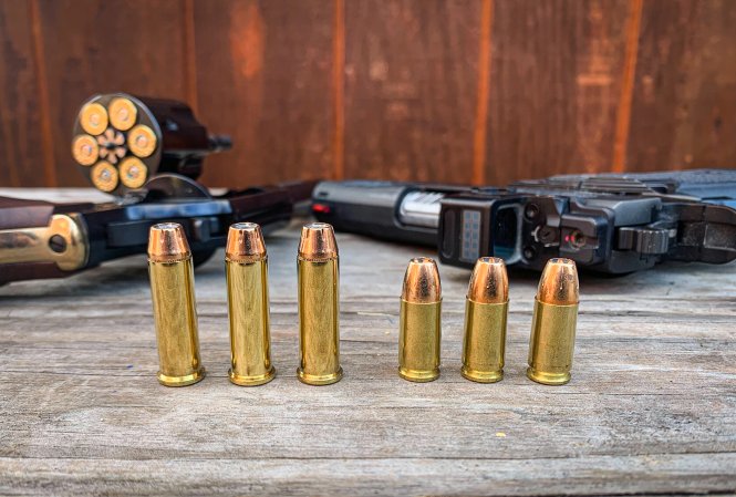
[[[437,263],[412,259],[398,315],[398,375],[412,382],[439,377],[442,288]]]

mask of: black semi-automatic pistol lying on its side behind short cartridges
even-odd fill
[[[506,187],[322,182],[312,211],[335,229],[541,270],[563,257],[621,275],[665,260],[736,258],[736,170],[561,175]]]

